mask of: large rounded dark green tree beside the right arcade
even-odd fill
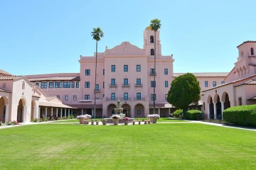
[[[200,91],[196,77],[191,73],[183,74],[171,82],[167,101],[177,108],[186,109],[189,104],[198,103]]]

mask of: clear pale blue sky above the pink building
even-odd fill
[[[255,6],[255,0],[1,0],[0,69],[80,72],[80,55],[95,52],[92,28],[105,33],[99,52],[123,41],[142,48],[144,28],[159,18],[162,55],[174,55],[174,72],[230,72],[236,47],[256,40]]]

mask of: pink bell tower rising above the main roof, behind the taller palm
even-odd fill
[[[156,58],[161,56],[161,41],[159,39],[159,30],[156,31],[156,37],[154,30],[151,30],[151,26],[146,27],[144,30],[144,50],[146,55],[154,56],[154,42],[156,41]]]

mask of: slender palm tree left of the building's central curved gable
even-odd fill
[[[96,118],[96,76],[97,76],[97,42],[100,40],[100,38],[104,37],[104,33],[100,28],[93,28],[92,31],[92,40],[96,40],[96,64],[95,64],[95,104],[93,109],[93,117]]]

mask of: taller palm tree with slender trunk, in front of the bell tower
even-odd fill
[[[156,31],[161,28],[161,21],[159,19],[154,19],[150,21],[151,30],[154,30],[154,114],[156,114],[156,104],[155,104],[155,88],[156,88]]]

